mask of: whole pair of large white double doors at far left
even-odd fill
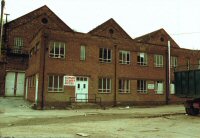
[[[7,72],[5,96],[23,96],[24,79],[25,79],[25,73]]]

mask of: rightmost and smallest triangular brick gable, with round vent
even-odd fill
[[[178,44],[170,37],[170,35],[163,28],[145,34],[143,36],[137,37],[134,40],[140,43],[165,45],[165,46],[167,46],[168,41],[170,41],[171,47],[179,48]]]

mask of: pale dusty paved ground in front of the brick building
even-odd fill
[[[0,138],[199,138],[200,116],[182,105],[32,110],[20,98],[0,98]]]

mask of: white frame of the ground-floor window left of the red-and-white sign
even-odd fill
[[[52,77],[52,87],[49,86],[49,78]],[[58,87],[55,88],[54,85],[55,85],[55,77],[57,77],[57,80],[58,80]],[[60,78],[62,78],[62,82],[60,82]],[[62,87],[60,87],[60,84],[62,83]],[[48,76],[48,92],[63,92],[63,76],[61,75],[49,75]]]

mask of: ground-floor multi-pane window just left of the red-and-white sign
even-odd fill
[[[63,76],[48,76],[48,92],[63,91]]]

